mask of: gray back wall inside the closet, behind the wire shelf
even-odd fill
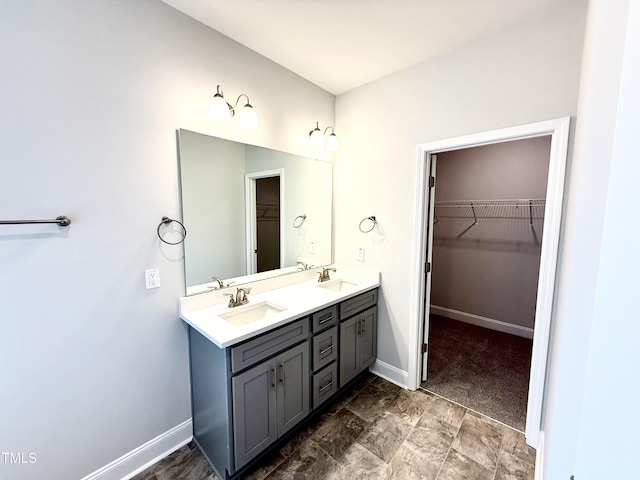
[[[538,137],[438,154],[436,202],[545,198],[550,146]],[[544,211],[533,230],[527,207],[477,208],[471,228],[468,209],[437,211],[431,304],[533,328]]]

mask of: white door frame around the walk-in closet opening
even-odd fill
[[[509,140],[520,140],[540,136],[551,136],[549,175],[544,216],[544,235],[540,254],[538,295],[536,299],[535,329],[529,379],[529,398],[525,438],[529,445],[538,447],[542,421],[544,383],[547,370],[547,354],[551,334],[553,292],[556,280],[562,202],[569,143],[570,118],[558,118],[515,127],[492,130],[472,135],[449,138],[418,145],[415,240],[413,246],[413,275],[409,314],[409,369],[408,387],[415,390],[420,385],[421,348],[423,339],[423,315],[425,307],[424,265],[427,249],[428,172],[431,171],[431,155],[437,153],[478,147]]]

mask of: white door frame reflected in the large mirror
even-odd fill
[[[280,268],[284,267],[284,168],[249,172],[244,174],[247,275],[257,273],[256,270],[258,269],[257,258],[254,253],[257,248],[256,180],[270,177],[280,177]]]

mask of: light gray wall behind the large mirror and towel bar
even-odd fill
[[[0,477],[78,479],[190,418],[175,130],[306,154],[334,98],[155,0],[4,0],[0,14]],[[221,84],[257,131],[211,124]],[[162,286],[145,290],[159,267]]]

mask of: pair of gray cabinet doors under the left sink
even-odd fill
[[[232,378],[236,469],[309,414],[309,342]]]

